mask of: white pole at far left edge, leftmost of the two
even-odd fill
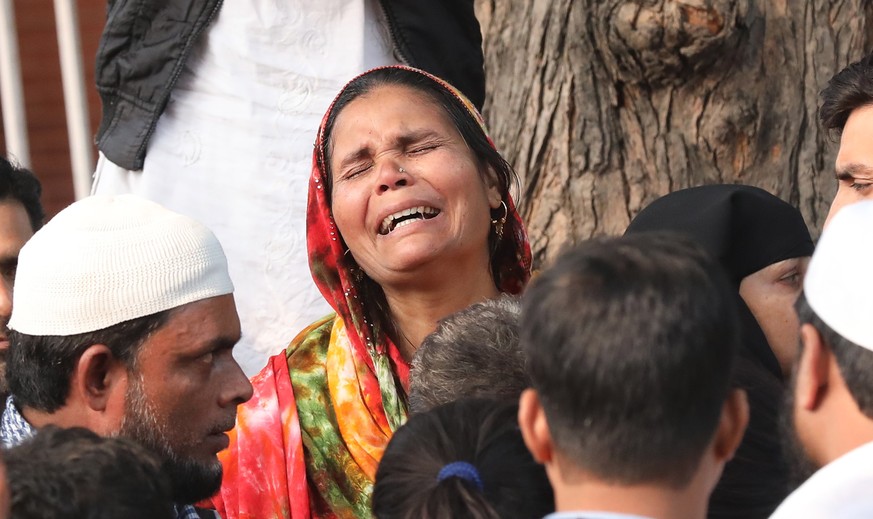
[[[0,0],[0,103],[3,104],[3,132],[6,151],[24,167],[30,167],[21,57],[12,0]]]

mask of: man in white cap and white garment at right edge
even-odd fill
[[[873,517],[873,201],[844,207],[797,301],[801,351],[786,413],[789,455],[810,476],[772,518]]]

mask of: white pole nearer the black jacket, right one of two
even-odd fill
[[[64,84],[64,107],[70,141],[73,190],[78,200],[91,193],[94,158],[91,124],[88,119],[88,97],[85,92],[85,72],[82,66],[82,44],[79,40],[79,17],[75,0],[55,0],[55,21]]]

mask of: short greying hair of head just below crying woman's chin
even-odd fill
[[[518,345],[521,304],[501,295],[441,320],[412,359],[409,409],[420,413],[464,397],[518,397],[530,386]]]

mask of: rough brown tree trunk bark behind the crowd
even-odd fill
[[[537,264],[655,198],[760,186],[817,234],[830,77],[873,48],[873,0],[476,0],[486,118],[521,177]]]

